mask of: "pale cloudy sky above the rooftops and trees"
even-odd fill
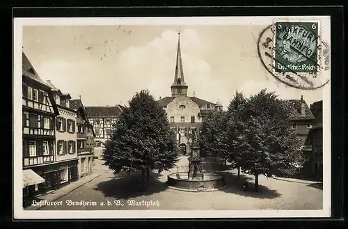
[[[322,100],[322,89],[299,90],[262,67],[257,38],[264,26],[24,26],[23,51],[39,76],[85,106],[128,104],[143,89],[171,96],[177,32],[188,95],[221,102],[266,88],[282,99]]]

